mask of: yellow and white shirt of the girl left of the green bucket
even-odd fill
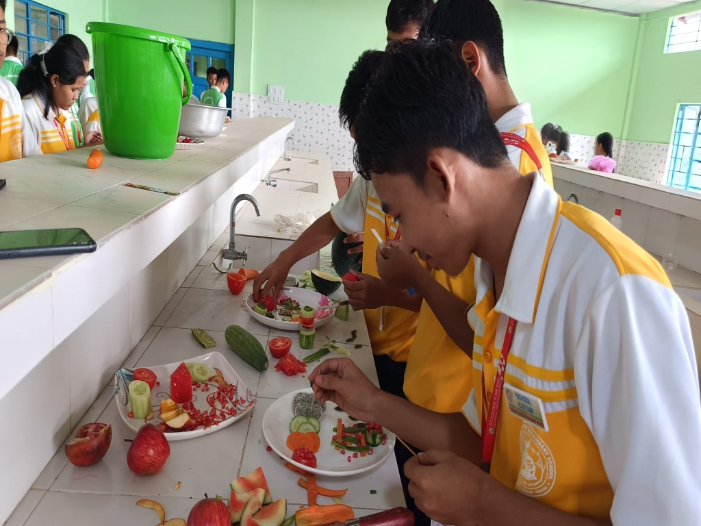
[[[59,109],[58,114],[55,114],[53,107],[49,107],[48,117],[44,117],[43,104],[34,95],[28,95],[22,100],[22,106],[27,119],[27,135],[34,137],[32,144],[38,145],[32,151],[25,149],[25,157],[76,149],[69,111]]]

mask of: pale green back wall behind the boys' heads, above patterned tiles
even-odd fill
[[[246,1],[254,4],[253,31],[238,28],[237,48],[252,46],[252,93],[280,84],[288,99],[338,104],[353,61],[385,46],[387,0]],[[533,104],[536,124],[619,136],[639,19],[523,0],[495,5],[510,81],[519,100]],[[249,91],[238,81],[248,75],[237,51],[236,90]]]

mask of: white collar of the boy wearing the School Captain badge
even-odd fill
[[[533,178],[533,186],[521,222],[516,231],[506,268],[504,290],[494,310],[521,323],[536,319],[541,276],[559,220],[560,197],[541,177]],[[494,273],[488,262],[475,259],[475,285],[479,291],[491,288]],[[482,294],[484,295],[484,294]]]

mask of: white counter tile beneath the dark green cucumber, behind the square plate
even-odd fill
[[[207,333],[215,340],[216,346],[212,349],[203,349],[203,347],[193,337],[190,329],[178,329],[164,327],[158,336],[151,342],[149,349],[144,353],[137,367],[152,367],[154,365],[163,365],[165,363],[192,361],[190,358],[201,356],[211,351],[221,353],[226,360],[231,363],[231,367],[236,371],[236,374],[243,380],[247,388],[254,394],[258,389],[258,381],[260,373],[253,367],[245,363],[243,359],[233,352],[226,344],[224,332],[209,330]],[[261,345],[265,349],[268,340],[267,336],[257,336]],[[226,379],[226,378],[225,378]],[[161,383],[163,381],[161,380]]]

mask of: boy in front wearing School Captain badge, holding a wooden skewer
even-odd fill
[[[475,255],[475,389],[462,415],[439,414],[332,359],[310,375],[317,398],[426,450],[404,466],[409,491],[445,525],[697,524],[701,393],[681,300],[603,217],[519,173],[462,64],[449,43],[387,53],[355,140],[423,259],[453,274]]]

